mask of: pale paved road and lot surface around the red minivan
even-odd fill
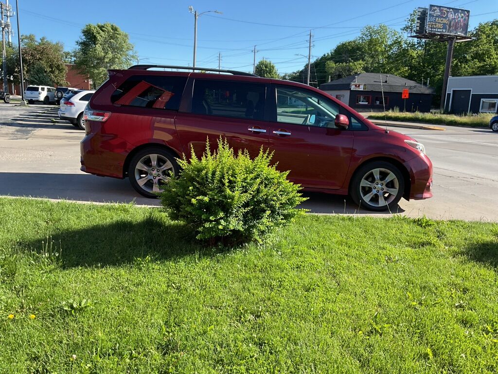
[[[444,126],[443,126],[444,127]],[[498,221],[498,134],[489,129],[392,129],[426,147],[434,164],[434,197],[401,200],[393,213],[437,219]],[[0,104],[0,195],[159,205],[137,194],[127,180],[80,172],[84,133],[57,119],[57,107]],[[306,193],[315,213],[383,215],[360,210],[346,196]]]

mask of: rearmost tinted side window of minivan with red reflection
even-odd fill
[[[113,104],[178,110],[187,77],[133,75],[111,95]]]

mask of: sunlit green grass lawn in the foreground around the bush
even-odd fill
[[[497,224],[306,215],[192,243],[155,208],[0,198],[0,373],[498,371]]]

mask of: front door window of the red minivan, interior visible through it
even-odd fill
[[[293,125],[335,128],[339,105],[313,91],[277,87],[276,121]]]

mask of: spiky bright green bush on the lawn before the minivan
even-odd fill
[[[226,140],[218,150],[198,159],[179,160],[182,169],[161,193],[170,217],[189,225],[196,237],[211,244],[261,241],[265,234],[289,224],[304,212],[299,186],[286,180],[288,173],[270,166],[267,151],[251,160],[247,151],[237,156]]]

